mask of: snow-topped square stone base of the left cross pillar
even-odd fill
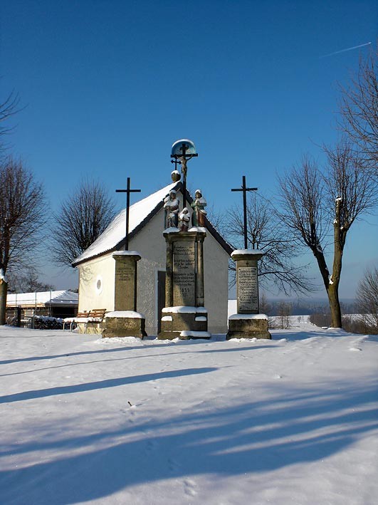
[[[103,321],[103,338],[147,337],[145,323],[145,316],[139,312],[108,312]]]

